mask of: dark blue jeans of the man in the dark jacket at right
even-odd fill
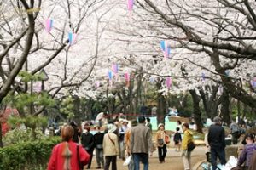
[[[222,165],[226,164],[226,158],[225,158],[225,150],[216,150],[214,148],[211,148],[211,163],[212,163],[212,170],[216,170],[217,167],[217,158],[219,159],[220,163]]]

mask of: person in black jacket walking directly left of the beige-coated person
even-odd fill
[[[96,162],[97,166],[96,169],[101,169],[104,167],[104,157],[103,157],[103,139],[104,133],[101,133],[101,127],[99,125],[95,126],[96,133],[94,135],[94,142],[96,148]],[[101,167],[102,163],[102,167]]]

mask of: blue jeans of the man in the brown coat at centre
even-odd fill
[[[143,162],[144,170],[148,170],[148,154],[146,153],[136,153],[132,154],[133,161],[134,161],[134,170],[140,169],[140,161]]]

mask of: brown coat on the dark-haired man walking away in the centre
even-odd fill
[[[131,153],[146,153],[152,152],[152,137],[150,129],[144,124],[138,124],[131,128]]]

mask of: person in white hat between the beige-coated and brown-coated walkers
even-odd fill
[[[125,161],[125,133],[129,129],[128,121],[126,119],[123,120],[122,126],[119,128],[119,149],[120,149],[120,158]]]

